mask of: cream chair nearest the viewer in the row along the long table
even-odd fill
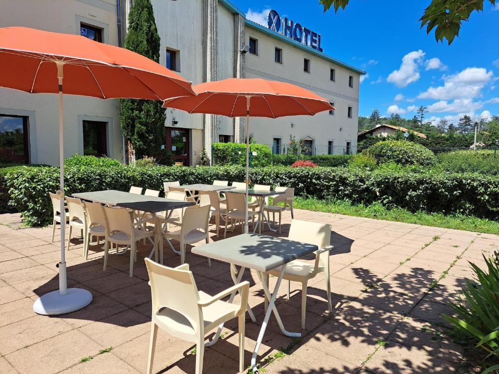
[[[130,246],[130,278],[133,276],[133,263],[137,261],[137,241],[154,236],[154,231],[144,230],[144,223],[156,221],[156,218],[134,222],[126,208],[104,206],[106,218],[106,243],[104,244],[104,271],[107,267],[109,243]],[[151,227],[147,227],[150,229]]]

